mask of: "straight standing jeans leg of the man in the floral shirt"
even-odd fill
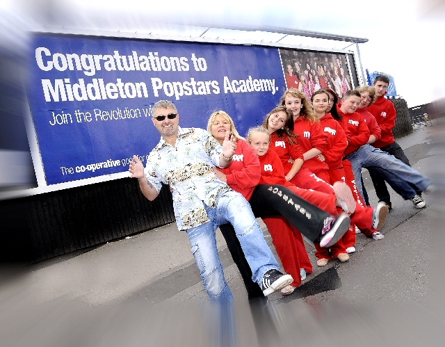
[[[187,230],[197,268],[204,288],[212,302],[227,303],[233,301],[232,291],[227,284],[223,265],[220,263],[216,248],[216,225],[208,222]]]

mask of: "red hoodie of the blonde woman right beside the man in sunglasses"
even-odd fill
[[[245,200],[252,197],[254,188],[259,184],[261,170],[257,153],[245,140],[236,141],[232,163],[227,168],[218,170],[226,175],[230,188],[243,194]]]

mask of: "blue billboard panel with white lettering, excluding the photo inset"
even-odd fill
[[[286,89],[277,48],[35,34],[27,95],[47,185],[145,163],[160,135],[150,117],[175,102],[181,127],[224,110],[240,134]]]

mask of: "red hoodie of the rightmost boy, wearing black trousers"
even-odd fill
[[[377,120],[380,130],[382,130],[382,137],[372,145],[380,148],[396,142],[394,134],[392,134],[392,129],[396,126],[397,117],[394,104],[385,99],[385,95],[382,95],[371,106],[366,107],[366,111],[372,113],[375,120]]]

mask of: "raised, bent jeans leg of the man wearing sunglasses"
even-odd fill
[[[216,202],[216,223],[231,223],[241,248],[252,270],[254,282],[261,286],[264,274],[280,266],[264,240],[263,231],[250,209],[250,204],[240,193],[228,191],[218,197]]]

